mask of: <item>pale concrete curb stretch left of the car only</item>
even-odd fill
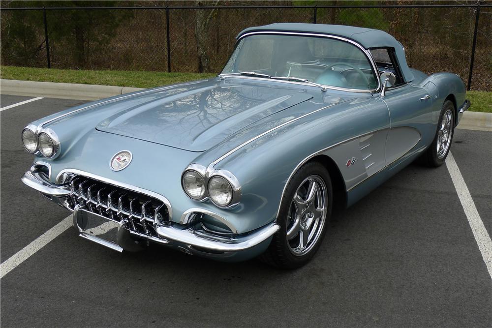
[[[0,80],[1,94],[45,98],[97,100],[138,90],[143,89],[90,84]]]

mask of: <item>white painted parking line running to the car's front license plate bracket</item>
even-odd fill
[[[57,238],[65,230],[72,226],[72,215],[65,217],[62,222],[58,223],[56,226],[34,239],[29,245],[15,253],[8,260],[0,265],[0,278],[3,278],[5,274],[16,268],[19,264],[29,259],[29,257],[43,248],[51,240]]]

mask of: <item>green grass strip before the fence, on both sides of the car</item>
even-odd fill
[[[95,84],[103,86],[153,88],[174,83],[206,79],[215,74],[165,73],[143,71],[94,71],[0,66],[0,78],[8,80]],[[491,91],[468,91],[470,111],[492,113]]]

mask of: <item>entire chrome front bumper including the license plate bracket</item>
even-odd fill
[[[53,200],[62,207],[73,211],[74,227],[77,229],[81,237],[98,242],[112,249],[122,251],[128,249],[126,245],[132,240],[128,240],[131,236],[133,239],[146,239],[154,241],[169,247],[173,247],[189,254],[197,254],[209,257],[221,257],[226,254],[245,251],[255,246],[262,244],[270,239],[280,228],[280,226],[271,222],[262,228],[255,231],[231,236],[220,236],[213,234],[210,231],[197,230],[195,227],[197,222],[189,222],[188,224],[178,224],[176,222],[165,222],[155,226],[157,237],[150,236],[135,231],[125,229],[123,220],[117,222],[109,218],[105,218],[109,223],[116,222],[118,225],[118,237],[114,243],[108,243],[107,240],[91,235],[86,231],[87,219],[84,217],[84,212],[87,212],[83,207],[76,206],[71,209],[66,201],[70,194],[69,185],[55,185],[43,178],[41,173],[36,170],[30,170],[21,178],[22,182],[31,188],[39,191],[44,196]],[[99,215],[100,216],[100,215]],[[108,226],[108,225],[106,225]],[[115,226],[113,225],[113,228]],[[123,231],[124,230],[124,231]]]

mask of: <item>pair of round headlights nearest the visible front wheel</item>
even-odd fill
[[[195,165],[197,166],[197,165]],[[239,202],[241,186],[238,180],[225,170],[185,170],[181,184],[186,195],[195,200],[203,201],[207,197],[218,207],[226,208]],[[201,172],[199,172],[202,171]]]

